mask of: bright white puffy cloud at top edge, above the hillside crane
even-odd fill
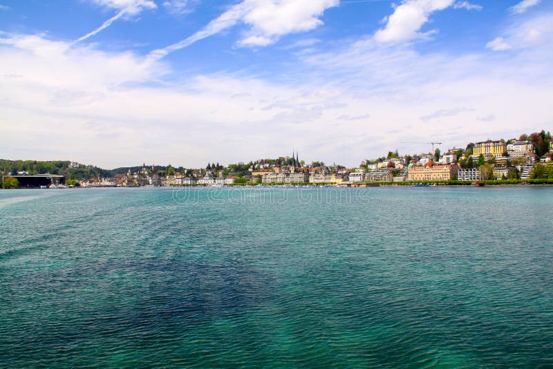
[[[430,15],[452,5],[453,0],[406,0],[395,8],[388,17],[386,27],[378,30],[374,38],[379,42],[393,43],[422,37],[425,34],[419,30]]]

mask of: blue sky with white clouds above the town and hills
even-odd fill
[[[552,0],[0,0],[5,159],[355,167],[552,107]]]

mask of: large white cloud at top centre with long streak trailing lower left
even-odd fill
[[[283,35],[312,30],[322,24],[324,10],[337,6],[339,0],[244,0],[212,20],[198,32],[166,48],[153,50],[150,57],[159,59],[186,48],[201,39],[243,22],[250,26],[238,46],[267,46]]]

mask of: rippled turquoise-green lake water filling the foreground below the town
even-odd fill
[[[0,367],[553,366],[553,188],[0,191]]]

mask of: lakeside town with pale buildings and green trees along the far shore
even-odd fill
[[[224,185],[341,185],[409,182],[478,182],[553,178],[553,149],[549,132],[521,135],[511,140],[486,140],[465,149],[435,149],[433,153],[400,155],[397,151],[376,160],[364,160],[357,168],[306,164],[297,152],[292,156],[229,164],[209,163],[200,169],[142,167],[115,169],[116,173],[77,162],[0,161],[4,188],[10,187],[144,187]],[[11,164],[10,164],[11,163]],[[19,163],[19,164],[16,164]],[[52,166],[52,162],[50,166]],[[64,169],[61,166],[66,166]],[[11,165],[11,166],[10,166]],[[38,170],[37,170],[38,168]],[[42,172],[42,173],[37,173]],[[51,172],[51,173],[50,173]],[[66,178],[69,178],[66,180]]]

